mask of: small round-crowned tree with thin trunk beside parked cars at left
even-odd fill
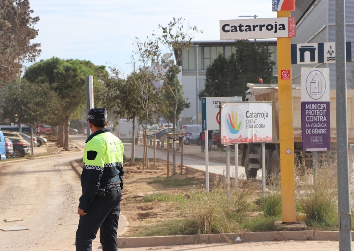
[[[14,124],[29,125],[31,136],[36,122],[50,121],[60,114],[61,99],[48,83],[31,84],[23,80],[21,85],[2,87],[0,93],[2,119],[8,119]]]

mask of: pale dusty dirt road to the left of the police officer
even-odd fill
[[[81,186],[69,162],[81,156],[0,163],[0,229],[15,230],[0,231],[1,251],[75,250]]]

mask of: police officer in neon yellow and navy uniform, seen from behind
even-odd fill
[[[123,144],[107,129],[107,110],[89,111],[92,134],[86,140],[76,251],[91,251],[98,229],[103,251],[117,250],[117,228],[123,188]]]

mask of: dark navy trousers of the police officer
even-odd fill
[[[102,251],[117,251],[117,229],[122,190],[120,186],[108,189],[104,196],[96,196],[87,213],[80,216],[76,231],[76,251],[91,251],[92,240],[99,230]]]

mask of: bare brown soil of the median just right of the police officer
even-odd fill
[[[82,166],[82,161],[77,160]],[[156,159],[154,168],[153,159],[149,161],[150,169],[143,169],[143,161],[137,161],[135,164],[124,163],[124,189],[122,190],[123,200],[121,202],[121,213],[127,218],[129,227],[124,236],[131,236],[137,229],[143,226],[151,225],[165,219],[175,219],[179,217],[179,211],[173,202],[142,202],[145,195],[154,193],[173,193],[183,194],[188,198],[188,192],[191,190],[205,190],[205,175],[201,172],[188,171],[185,167],[181,169],[176,165],[176,174],[173,175],[173,166],[169,164],[170,179],[190,178],[191,185],[178,187],[165,187],[161,183],[150,183],[156,179],[167,178],[167,161]],[[154,170],[153,170],[154,169]],[[189,172],[189,173],[188,173]],[[210,187],[212,187],[210,177]]]

